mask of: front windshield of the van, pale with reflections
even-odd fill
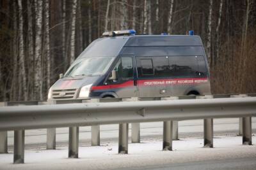
[[[106,73],[115,57],[86,57],[72,65],[65,76],[94,76]]]

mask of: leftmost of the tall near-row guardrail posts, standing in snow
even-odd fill
[[[14,131],[13,164],[24,163],[24,137],[24,130]]]

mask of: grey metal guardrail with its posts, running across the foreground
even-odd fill
[[[55,148],[56,127],[70,127],[68,157],[78,157],[79,126],[92,125],[92,145],[99,145],[100,124],[119,125],[119,153],[128,153],[128,124],[140,142],[139,122],[164,122],[163,150],[172,150],[173,121],[204,119],[204,146],[213,146],[212,118],[241,118],[243,144],[252,145],[252,119],[256,116],[255,94],[88,99],[5,103],[0,108],[0,152],[7,152],[7,133],[14,134],[14,163],[24,162],[24,130],[47,129],[47,148]],[[230,97],[230,98],[227,98]],[[46,104],[13,106],[17,104]],[[72,104],[60,104],[72,103]],[[54,105],[53,105],[54,104]],[[11,106],[10,106],[11,105]],[[175,127],[175,132],[177,124]]]

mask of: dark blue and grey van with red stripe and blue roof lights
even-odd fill
[[[93,41],[52,85],[48,99],[199,94],[211,94],[200,36],[125,30]]]

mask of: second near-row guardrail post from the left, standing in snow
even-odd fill
[[[69,127],[68,158],[78,158],[79,127]]]

